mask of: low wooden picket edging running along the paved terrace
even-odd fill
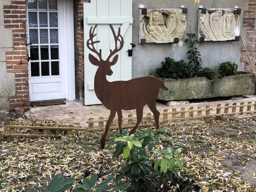
[[[159,122],[177,122],[177,121],[185,121],[185,120],[194,120],[194,119],[204,119],[205,122],[209,122],[212,116],[215,116],[216,119],[220,119],[222,115],[243,115],[243,114],[253,114],[256,116],[256,102],[248,102],[245,104],[241,102],[239,105],[237,103],[233,103],[229,105],[228,103],[222,106],[218,104],[216,107],[216,113],[210,114],[213,111],[209,105],[206,105],[205,108],[202,109],[199,106],[197,109],[190,107],[188,110],[185,108],[181,108],[179,111],[177,109],[172,109],[172,111],[163,110],[163,113],[160,113],[161,120]],[[128,115],[128,117],[122,118],[122,129],[133,128],[135,126],[135,122],[137,118],[133,115]],[[15,122],[11,122],[7,127],[9,128],[8,134],[3,134],[4,129],[0,129],[0,140],[3,140],[4,136],[10,139],[14,137],[58,137],[63,131],[67,132],[67,135],[71,135],[73,131],[103,131],[105,130],[105,123],[108,119],[104,119],[103,117],[99,117],[97,120],[93,118],[89,118],[86,122],[88,123],[88,127],[85,128],[77,128],[73,127],[73,125],[69,125],[68,127],[63,126],[62,124],[58,124],[56,127],[52,127],[51,124],[46,124],[46,126],[40,126],[39,123],[35,123],[33,126],[24,126],[24,125],[16,125]],[[118,129],[118,118],[115,118],[110,126],[111,130]],[[142,122],[140,123],[140,127],[150,127],[154,125],[154,116],[151,113],[147,113],[146,116],[143,116]],[[17,129],[32,129],[32,134],[16,134]],[[42,130],[39,132],[39,130]],[[51,130],[54,130],[51,133]]]

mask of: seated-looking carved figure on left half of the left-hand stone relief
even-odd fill
[[[152,11],[149,13],[150,19],[146,26],[148,32],[147,42],[164,41],[167,29],[164,25],[163,15],[160,11]]]

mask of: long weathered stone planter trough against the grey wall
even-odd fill
[[[209,80],[205,77],[190,79],[166,79],[157,77],[168,88],[168,91],[160,89],[158,99],[176,101],[254,94],[255,75],[245,72],[240,73],[242,74],[215,80]]]

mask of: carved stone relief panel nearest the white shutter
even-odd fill
[[[186,31],[184,9],[140,9],[139,43],[167,43]]]

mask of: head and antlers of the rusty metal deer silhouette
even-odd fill
[[[106,58],[106,60],[102,59],[102,55],[101,55],[101,49],[99,50],[99,52],[95,49],[94,44],[100,42],[99,40],[93,41],[93,38],[97,35],[95,33],[95,29],[96,29],[97,25],[93,27],[91,27],[90,29],[90,33],[89,33],[89,39],[87,40],[87,47],[89,50],[91,50],[92,52],[96,53],[96,55],[98,56],[98,58],[96,58],[95,56],[93,56],[91,53],[89,53],[89,60],[90,62],[95,65],[98,66],[98,70],[104,72],[106,75],[112,75],[113,71],[110,69],[111,66],[115,65],[117,60],[118,60],[118,55],[115,55],[117,52],[119,52],[122,48],[123,48],[123,37],[120,34],[120,27],[118,28],[118,33],[116,35],[115,30],[113,28],[112,25],[110,25],[111,31],[113,33],[114,36],[114,41],[115,41],[115,49],[114,50],[110,50],[110,54],[108,56],[108,58]],[[118,42],[120,42],[120,46],[118,48]],[[114,56],[115,55],[115,56]],[[114,58],[111,61],[111,58],[114,56]]]

